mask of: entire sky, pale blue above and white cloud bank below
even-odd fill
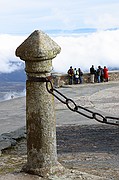
[[[61,53],[53,61],[56,71],[90,65],[119,66],[119,0],[0,0],[0,73],[20,69],[15,49],[34,30],[96,28],[79,37],[51,37]],[[14,62],[14,63],[13,63]],[[63,63],[63,66],[62,66]]]

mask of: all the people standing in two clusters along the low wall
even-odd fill
[[[81,70],[81,68],[72,68],[72,66],[70,66],[69,70],[68,70],[68,77],[69,77],[69,84],[82,84],[83,82],[83,72]],[[102,68],[101,66],[98,66],[97,69],[94,68],[94,65],[92,65],[90,67],[90,82],[94,83],[94,82],[108,82],[108,68],[106,66],[104,66],[104,68]]]

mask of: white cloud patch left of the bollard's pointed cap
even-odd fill
[[[25,39],[24,36],[0,35],[0,73],[13,72],[22,66],[16,58],[15,49]]]

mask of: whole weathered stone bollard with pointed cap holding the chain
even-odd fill
[[[54,98],[42,77],[50,75],[52,59],[61,48],[42,31],[34,31],[17,49],[25,61],[27,163],[23,171],[47,177],[62,171],[57,161]]]

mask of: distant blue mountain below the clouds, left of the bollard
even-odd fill
[[[24,70],[17,70],[11,73],[0,73],[0,82],[25,82],[26,73]]]

